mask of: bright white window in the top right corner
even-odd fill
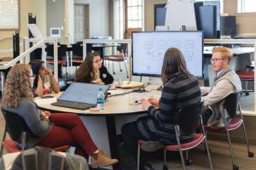
[[[238,13],[255,13],[256,1],[255,0],[238,0],[237,11]]]

